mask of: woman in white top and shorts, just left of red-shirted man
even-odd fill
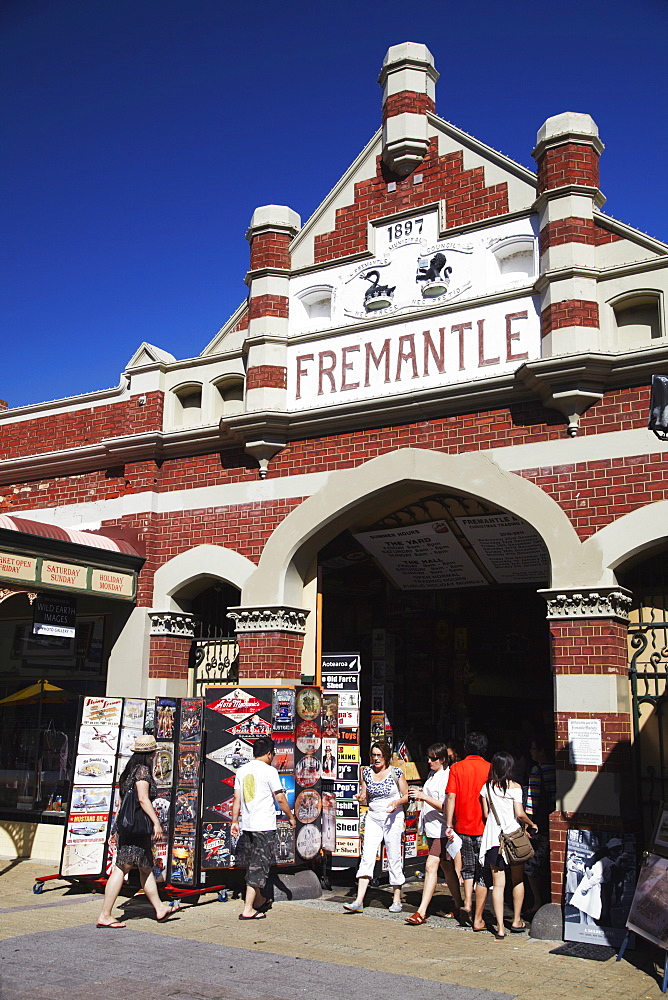
[[[446,856],[450,860],[460,857],[461,838],[453,834],[453,839],[449,840],[445,835],[445,814],[443,813],[443,802],[445,800],[445,789],[448,784],[450,768],[446,767],[450,754],[445,743],[432,743],[427,749],[427,760],[429,761],[429,775],[422,788],[409,786],[408,795],[414,802],[420,803],[419,832],[424,834],[429,844],[429,854],[424,869],[424,885],[422,886],[422,899],[420,905],[406,917],[405,923],[419,926],[427,919],[427,908],[434,895],[436,882],[438,880],[438,866],[443,866],[445,872]],[[461,870],[461,869],[460,869]],[[450,914],[452,916],[453,914]]]

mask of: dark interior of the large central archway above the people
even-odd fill
[[[532,735],[553,737],[548,576],[533,528],[465,494],[410,498],[322,549],[322,650],[361,654],[362,756],[383,710],[421,771],[430,743],[479,730],[526,784]]]

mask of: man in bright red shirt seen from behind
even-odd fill
[[[451,765],[445,789],[446,836],[452,837],[453,832],[456,832],[462,838],[464,903],[462,904],[461,901],[459,886],[450,884],[453,881],[452,878],[448,878],[448,888],[460,914],[470,920],[473,914],[473,885],[475,882],[474,931],[485,929],[482,914],[487,898],[487,883],[478,856],[485,829],[485,820],[480,804],[480,789],[489,777],[489,761],[483,757],[483,754],[487,752],[487,744],[487,737],[483,733],[468,734],[464,741],[467,756],[464,760]]]

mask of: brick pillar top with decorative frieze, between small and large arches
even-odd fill
[[[308,611],[301,608],[231,608],[239,643],[239,682],[299,683]]]

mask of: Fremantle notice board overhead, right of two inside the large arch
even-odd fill
[[[550,563],[538,532],[513,514],[458,517],[457,524],[498,583],[542,583]]]

